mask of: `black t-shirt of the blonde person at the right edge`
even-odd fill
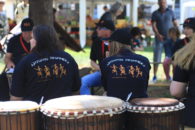
[[[184,70],[176,66],[173,81],[188,84],[187,99],[184,101],[184,124],[195,127],[195,69]]]

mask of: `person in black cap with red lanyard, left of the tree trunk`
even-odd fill
[[[30,52],[30,39],[33,26],[33,21],[30,18],[23,19],[21,23],[22,33],[9,40],[4,59],[8,69],[14,68],[22,57]]]

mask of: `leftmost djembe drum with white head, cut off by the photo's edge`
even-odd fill
[[[0,130],[38,130],[38,108],[31,101],[0,102]]]

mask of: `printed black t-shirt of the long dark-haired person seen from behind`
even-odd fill
[[[40,102],[71,95],[80,88],[75,60],[66,52],[56,51],[47,56],[36,53],[24,57],[13,74],[11,94],[24,100]]]

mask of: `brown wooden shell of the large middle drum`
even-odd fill
[[[44,130],[122,130],[124,114],[95,115],[78,119],[44,117]]]

